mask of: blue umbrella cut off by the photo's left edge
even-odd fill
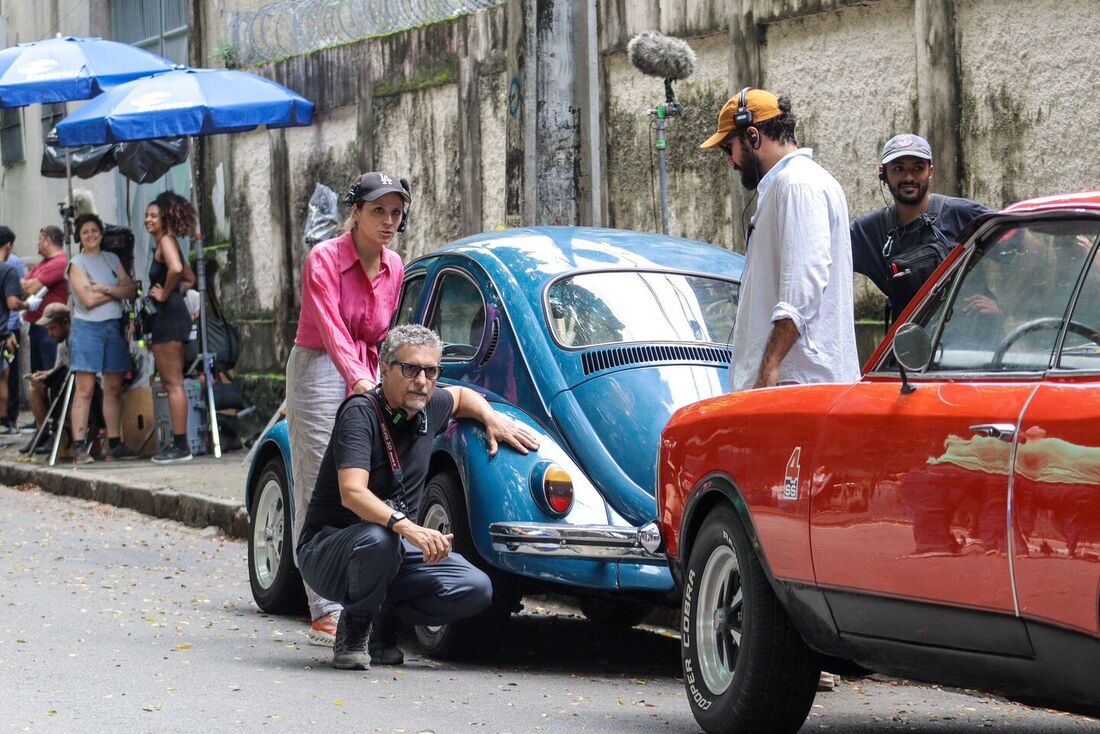
[[[178,68],[103,39],[48,39],[0,51],[0,107],[90,99],[132,79]]]

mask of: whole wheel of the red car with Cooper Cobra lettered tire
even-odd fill
[[[704,731],[782,734],[802,726],[817,690],[817,658],[730,507],[714,510],[692,545],[682,618],[684,688]]]

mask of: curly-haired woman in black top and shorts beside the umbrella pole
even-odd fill
[[[183,293],[195,286],[195,275],[184,262],[177,238],[190,237],[197,224],[195,207],[174,191],[161,194],[145,209],[145,231],[156,243],[148,266],[148,296],[156,302],[150,343],[161,385],[168,394],[173,436],[172,445],[153,457],[157,463],[191,459],[187,443],[187,394],[184,392],[184,344],[191,332],[191,315]]]

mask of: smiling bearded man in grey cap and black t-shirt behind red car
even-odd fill
[[[970,199],[930,193],[934,171],[928,141],[894,135],[882,147],[879,165],[879,180],[894,204],[851,222],[853,264],[889,298],[890,321],[955,247],[959,231],[989,211]]]

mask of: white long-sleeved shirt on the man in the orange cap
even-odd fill
[[[791,319],[799,340],[780,383],[859,380],[848,202],[840,185],[801,147],[757,187],[734,326],[729,388],[756,382],[772,324]]]

